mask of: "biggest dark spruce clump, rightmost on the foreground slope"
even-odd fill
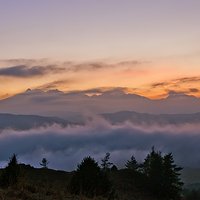
[[[181,170],[182,168],[174,163],[171,153],[162,156],[161,152],[155,151],[153,147],[143,164],[149,192],[159,199],[180,199],[183,185],[180,179]]]

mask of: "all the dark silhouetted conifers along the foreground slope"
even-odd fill
[[[48,167],[48,160],[42,159],[40,165]],[[179,200],[183,183],[180,179],[181,167],[174,162],[172,153],[162,154],[153,147],[142,163],[138,163],[134,155],[127,160],[124,169],[133,180],[134,187],[143,193],[163,200]],[[115,188],[110,179],[112,173],[120,171],[110,162],[110,153],[106,153],[99,165],[94,158],[83,158],[77,169],[72,172],[69,183],[71,194],[89,198],[103,196],[115,199]],[[0,175],[2,188],[14,186],[22,176],[20,165],[14,154]]]

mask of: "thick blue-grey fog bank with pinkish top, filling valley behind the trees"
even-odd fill
[[[199,128],[198,124],[111,125],[98,118],[84,126],[54,125],[20,132],[4,130],[0,134],[1,162],[5,163],[12,153],[17,153],[20,161],[36,167],[42,157],[46,157],[50,167],[72,170],[84,156],[91,155],[100,161],[110,152],[112,161],[122,167],[132,154],[142,161],[155,145],[163,152],[173,152],[178,164],[197,167],[200,165]]]

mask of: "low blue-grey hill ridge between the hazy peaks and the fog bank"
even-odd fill
[[[120,111],[116,113],[100,114],[100,117],[111,124],[123,124],[131,122],[135,125],[181,125],[200,123],[200,113],[194,114],[148,114],[132,111]],[[53,124],[66,127],[74,124],[84,124],[92,118],[76,119],[75,121],[65,120],[58,117],[44,117],[38,115],[14,115],[0,113],[0,130],[15,129],[28,130],[32,128],[47,127]]]

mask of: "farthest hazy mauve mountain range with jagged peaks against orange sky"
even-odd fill
[[[126,94],[122,88],[114,88],[105,92],[93,89],[69,93],[28,89],[24,93],[0,100],[0,111],[4,113],[31,113],[75,121],[86,114],[123,110],[151,114],[189,114],[200,112],[200,99],[184,93],[170,92],[166,98],[152,100],[136,94]]]

